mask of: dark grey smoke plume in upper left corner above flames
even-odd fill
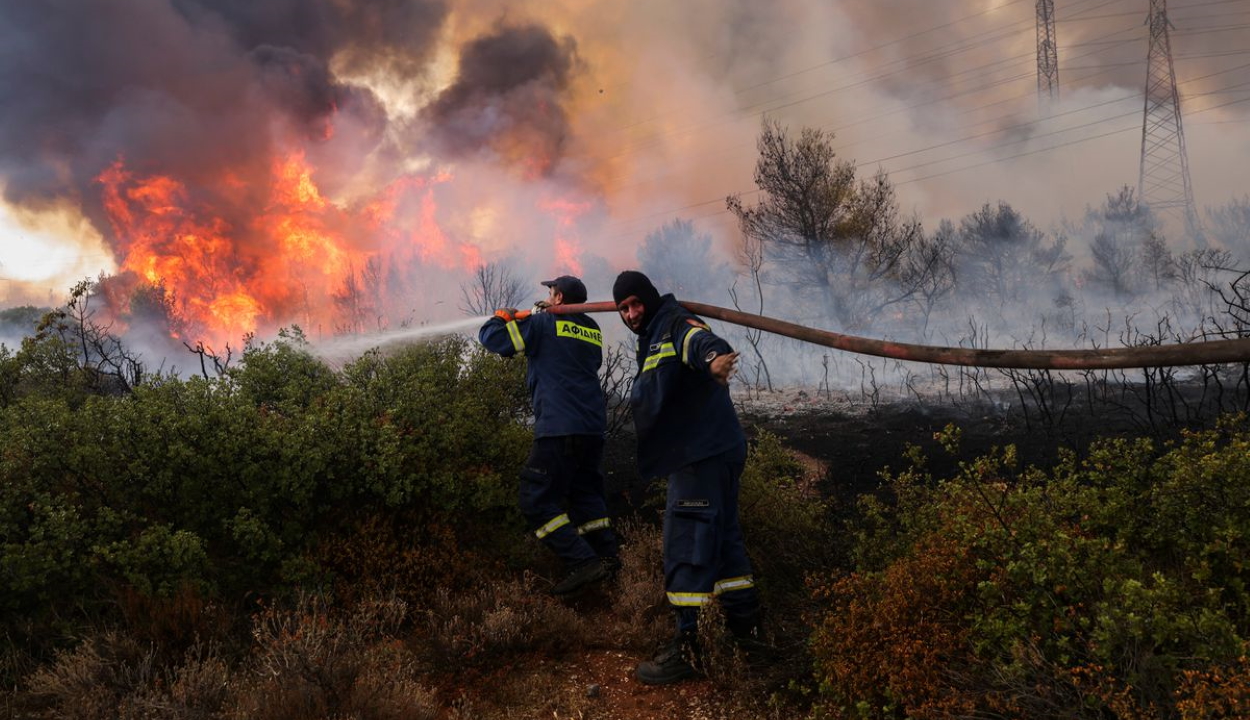
[[[0,0],[5,199],[78,200],[102,229],[95,179],[119,158],[195,188],[265,172],[275,122],[315,145],[334,118],[356,136],[332,141],[368,149],[385,112],[331,60],[416,68],[445,16],[441,0]]]

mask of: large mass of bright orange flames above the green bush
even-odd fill
[[[220,349],[291,322],[359,330],[364,315],[372,315],[370,325],[384,315],[382,270],[481,262],[478,248],[439,225],[432,190],[449,175],[405,176],[355,206],[326,199],[315,178],[296,151],[272,162],[262,204],[228,200],[249,186],[232,174],[194,191],[176,178],[141,175],[124,159],[98,181],[121,274],[169,291],[182,329],[170,332],[190,344]]]

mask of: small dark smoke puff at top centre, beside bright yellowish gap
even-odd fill
[[[578,69],[576,44],[545,28],[501,26],[465,45],[455,82],[422,112],[429,140],[452,158],[521,155],[548,174],[569,138],[562,95]]]

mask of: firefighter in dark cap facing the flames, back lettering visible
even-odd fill
[[[536,312],[502,308],[478,334],[491,352],[529,360],[534,445],[521,470],[520,509],[534,534],[564,560],[566,575],[551,589],[572,595],[620,568],[616,535],[604,498],[606,405],[599,384],[602,332],[585,314],[541,310],[586,301],[571,275],[542,282],[548,299]]]

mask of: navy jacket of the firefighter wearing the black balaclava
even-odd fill
[[[745,445],[729,388],[709,372],[716,355],[732,351],[671,294],[660,299],[639,336],[639,372],[630,394],[642,478],[668,476]]]

